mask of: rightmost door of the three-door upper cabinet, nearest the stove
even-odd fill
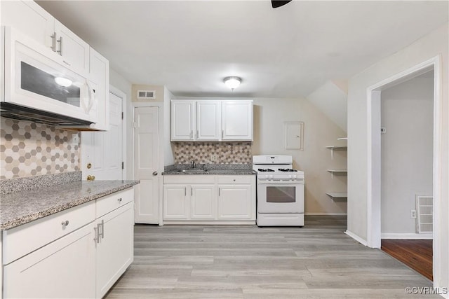
[[[222,102],[222,140],[253,141],[253,101]]]

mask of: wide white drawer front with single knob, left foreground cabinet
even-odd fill
[[[3,263],[25,256],[95,220],[95,201],[4,231]],[[67,225],[62,224],[66,223]]]

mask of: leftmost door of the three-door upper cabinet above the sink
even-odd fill
[[[170,105],[171,141],[193,141],[195,101],[172,100]]]

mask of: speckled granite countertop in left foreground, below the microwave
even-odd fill
[[[75,181],[34,190],[2,194],[0,230],[8,230],[45,216],[96,200],[139,181]]]

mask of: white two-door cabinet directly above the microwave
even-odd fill
[[[62,57],[83,74],[89,70],[89,45],[34,1],[1,1],[1,25],[15,27]]]

